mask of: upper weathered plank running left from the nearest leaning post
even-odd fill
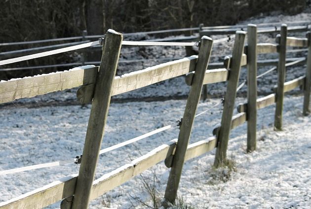
[[[95,83],[98,67],[84,66],[68,71],[35,75],[0,82],[0,104]]]

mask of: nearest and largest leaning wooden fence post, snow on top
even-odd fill
[[[116,75],[123,35],[108,30],[99,72],[96,78],[94,98],[87,126],[82,161],[79,169],[72,209],[87,209],[94,180],[98,154],[104,136],[110,105],[112,84]]]

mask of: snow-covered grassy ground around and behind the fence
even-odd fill
[[[310,20],[310,13],[296,16],[257,18],[247,23]],[[289,34],[290,35],[290,34]],[[296,36],[303,37],[300,33]],[[215,36],[214,39],[223,36]],[[272,35],[259,36],[259,42],[272,42]],[[233,42],[215,46],[215,55],[231,53]],[[184,56],[182,47],[125,48],[121,57],[153,59],[161,56]],[[140,57],[141,56],[141,57]],[[273,57],[269,57],[272,59]],[[276,57],[274,57],[276,58]],[[215,62],[220,62],[213,58]],[[268,59],[268,57],[261,57]],[[119,74],[141,70],[158,62],[119,66]],[[305,72],[306,66],[287,69],[287,80]],[[269,68],[259,69],[259,73]],[[241,79],[245,79],[242,70]],[[276,72],[259,80],[259,91],[267,94],[276,83]],[[224,84],[209,85],[210,94],[223,95]],[[245,93],[246,87],[241,89]],[[164,81],[147,88],[124,94],[123,98],[186,96],[189,87],[183,77]],[[298,90],[296,90],[298,92]],[[39,163],[72,159],[82,153],[90,105],[43,106],[27,108],[24,104],[57,104],[76,100],[76,90],[52,93],[15,102],[0,108],[0,170]],[[118,97],[116,97],[118,99]],[[121,97],[119,97],[122,99]],[[201,102],[197,113],[217,104],[220,99]],[[238,102],[244,102],[238,98]],[[228,156],[233,171],[212,168],[215,150],[186,162],[179,187],[179,196],[196,209],[205,208],[310,208],[311,205],[311,116],[303,117],[302,96],[286,96],[284,101],[284,130],[272,130],[274,108],[258,111],[257,150],[246,154],[246,125],[232,131]],[[102,148],[145,134],[169,124],[176,125],[184,112],[186,100],[164,102],[132,102],[111,104]],[[220,122],[222,106],[195,118],[190,143],[207,139]],[[148,139],[102,155],[96,178],[129,163],[155,147],[178,137],[178,128],[169,129]],[[78,173],[78,166],[67,165],[0,176],[0,202],[32,191],[69,174]],[[163,163],[144,172],[116,189],[91,202],[94,209],[146,208],[141,200],[151,205],[143,179],[155,185],[157,195],[163,197],[169,170]],[[155,183],[153,182],[155,176]],[[59,208],[59,203],[48,208]]]

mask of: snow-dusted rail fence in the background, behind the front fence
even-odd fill
[[[291,32],[303,32],[308,31],[311,21],[295,21],[295,22],[287,22],[287,24],[290,26],[288,28],[288,31]],[[261,23],[258,24],[257,27],[260,27],[260,30],[258,33],[261,34],[271,34],[271,33],[279,33],[280,31],[280,25],[279,22],[274,23]],[[202,35],[228,35],[229,38],[233,38],[235,31],[247,30],[247,25],[234,25],[234,26],[209,26],[204,27],[203,24],[200,24],[199,27],[196,28],[183,28],[183,29],[172,29],[172,30],[161,30],[161,31],[150,31],[150,32],[136,32],[136,33],[126,33],[123,34],[124,37],[127,36],[133,36],[133,35],[162,35],[162,34],[183,34],[184,32],[199,32],[199,35],[190,35],[190,36],[182,36],[182,37],[170,37],[170,38],[157,38],[157,39],[151,39],[147,41],[153,41],[153,42],[165,42],[165,41],[196,41],[199,40],[199,38]],[[0,52],[0,59],[7,59],[9,57],[17,57],[26,55],[29,53],[36,53],[44,50],[49,49],[57,49],[67,46],[73,46],[77,44],[82,43],[88,43],[91,42],[91,40],[94,40],[94,38],[100,38],[102,35],[87,35],[87,31],[83,31],[81,36],[75,36],[75,37],[64,37],[64,38],[54,38],[54,39],[45,39],[45,40],[34,40],[34,41],[23,41],[23,42],[11,42],[11,43],[0,43],[0,47],[7,47],[7,46],[15,46],[15,45],[29,45],[29,44],[45,44],[45,43],[53,43],[53,42],[60,42],[60,41],[75,41],[75,42],[69,42],[69,43],[59,43],[59,44],[53,44],[48,46],[39,46],[34,48],[27,48],[27,49],[19,49],[14,51],[5,51]],[[224,38],[222,41],[226,41],[227,38]],[[215,42],[214,42],[215,43]],[[101,50],[101,47],[99,45],[94,45],[89,50]],[[303,49],[304,50],[304,49]],[[186,50],[187,51],[187,50]],[[75,63],[66,63],[66,64],[55,64],[55,65],[45,65],[45,66],[28,66],[28,67],[15,67],[15,68],[4,68],[0,69],[0,71],[12,71],[12,70],[35,70],[35,69],[47,69],[47,68],[59,68],[59,67],[69,67],[69,66],[81,66],[81,65],[99,65],[100,62],[88,62],[86,58],[86,54],[88,52],[88,49],[84,49],[83,52],[81,52],[81,57],[79,62]],[[297,50],[289,50],[288,53],[291,52],[297,52]],[[171,61],[171,60],[177,60],[180,58],[171,57],[171,58],[158,58],[157,61]],[[119,60],[119,63],[145,63],[148,62],[148,59],[137,59],[137,60]],[[262,65],[271,65],[277,63],[277,60],[269,60],[269,61],[260,61],[258,63],[259,66]],[[217,69],[222,68],[222,63],[209,63],[208,66],[209,69]]]

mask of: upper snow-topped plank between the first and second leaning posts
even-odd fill
[[[144,70],[138,70],[121,76],[116,76],[113,82],[112,96],[128,91],[139,89],[145,86],[170,78],[184,75],[194,70],[197,56],[191,56],[180,60],[175,60],[160,65],[156,65]],[[78,89],[78,101],[82,104],[92,101],[94,84],[82,86]]]

